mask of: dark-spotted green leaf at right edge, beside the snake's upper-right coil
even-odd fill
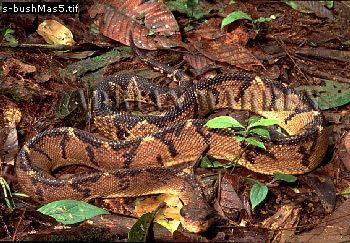
[[[327,110],[350,102],[350,84],[324,80],[324,85],[299,86],[321,110]]]

